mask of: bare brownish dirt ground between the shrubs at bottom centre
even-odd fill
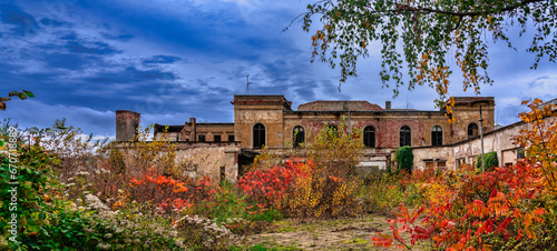
[[[274,222],[265,233],[250,237],[250,244],[263,244],[278,250],[389,250],[372,244],[377,232],[389,232],[388,218],[365,214],[330,221]]]

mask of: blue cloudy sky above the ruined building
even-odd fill
[[[284,94],[294,108],[314,100],[367,100],[393,108],[434,110],[427,87],[392,98],[379,79],[379,50],[360,61],[359,77],[338,90],[340,72],[310,62],[311,34],[295,22],[301,0],[0,0],[0,96],[30,90],[8,102],[0,118],[20,128],[50,127],[66,118],[85,133],[114,137],[115,111],[141,113],[141,124],[233,122],[234,94]],[[511,30],[512,31],[512,30]],[[517,51],[490,47],[496,121],[516,122],[521,100],[557,98],[557,64],[530,70],[530,39]],[[527,34],[528,36],[528,34]],[[451,96],[463,92],[460,73]]]

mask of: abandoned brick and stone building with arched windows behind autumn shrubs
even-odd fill
[[[494,97],[455,97],[452,124],[446,116],[446,107],[434,111],[392,109],[390,101],[383,108],[368,101],[314,101],[294,110],[284,96],[234,96],[231,103],[234,107],[232,123],[198,123],[190,118],[180,126],[155,124],[154,138],[174,141],[176,161],[195,163],[195,170],[188,171],[217,180],[235,180],[263,148],[280,153],[287,148],[303,147],[324,127],[338,130],[343,122],[346,131],[363,131],[365,149],[361,168],[364,170],[389,167],[393,152],[404,145],[413,149],[414,168],[471,163],[479,152],[476,141],[480,131],[486,137],[500,131],[494,130]],[[139,120],[139,113],[117,111],[116,140],[130,141]],[[510,152],[518,149],[508,148]],[[496,151],[494,145],[490,151]],[[509,152],[500,154],[505,154],[499,158],[502,161],[516,159],[510,158]]]

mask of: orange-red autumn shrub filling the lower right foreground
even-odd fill
[[[416,179],[426,203],[413,210],[400,205],[397,218],[389,220],[392,233],[378,233],[374,244],[408,249],[426,244],[432,250],[557,248],[557,124],[544,120],[554,114],[555,106],[540,104],[535,100],[529,103],[531,111],[521,113],[529,123],[516,138],[527,149],[524,161],[485,173],[465,165]],[[486,160],[497,161],[496,154],[489,155]]]

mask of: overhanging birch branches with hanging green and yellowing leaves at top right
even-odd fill
[[[518,27],[520,37],[535,30],[527,49],[535,54],[532,68],[544,57],[553,62],[557,57],[556,0],[321,0],[302,16],[305,31],[320,16],[312,62],[319,59],[340,67],[341,83],[356,76],[360,58],[379,50],[370,44],[380,43],[381,80],[388,88],[394,83],[394,96],[400,86],[419,84],[444,98],[453,73],[450,57],[462,72],[465,91],[479,93],[480,83],[492,83],[487,72],[488,38],[515,49],[510,27]]]

